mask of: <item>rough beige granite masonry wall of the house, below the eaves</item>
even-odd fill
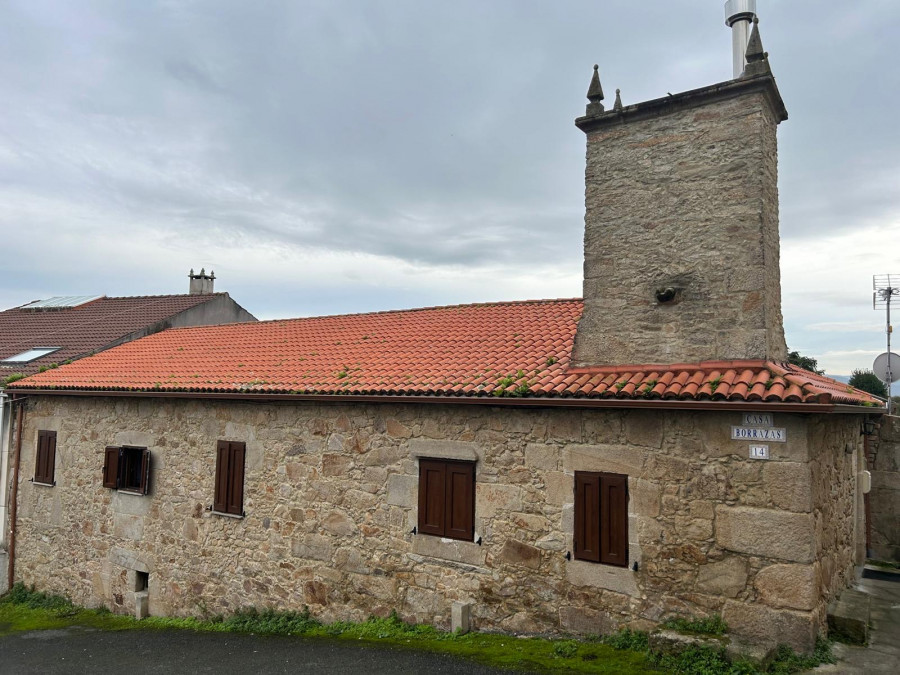
[[[448,627],[607,633],[721,612],[751,642],[809,648],[852,566],[859,424],[776,414],[768,461],[740,413],[32,396],[17,579],[117,612],[392,610]],[[56,485],[29,481],[55,430]],[[247,444],[244,518],[211,513],[216,441]],[[107,445],[152,453],[147,496],[101,486]],[[850,445],[847,445],[850,444]],[[848,452],[849,450],[849,452]],[[419,457],[476,464],[475,542],[412,533]],[[566,560],[573,472],[629,476],[629,568]],[[849,552],[848,552],[849,551]],[[637,563],[637,570],[632,565]]]

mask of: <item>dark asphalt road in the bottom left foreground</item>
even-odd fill
[[[287,637],[77,627],[0,637],[0,673],[111,672],[508,673],[425,652]]]

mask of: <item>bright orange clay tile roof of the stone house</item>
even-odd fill
[[[542,300],[170,329],[11,388],[880,405],[763,361],[569,369],[581,312]]]

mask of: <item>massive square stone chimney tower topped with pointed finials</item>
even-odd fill
[[[755,23],[740,77],[584,117],[584,314],[573,366],[787,358],[776,129]]]

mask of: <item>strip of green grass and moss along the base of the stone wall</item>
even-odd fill
[[[718,616],[706,619],[670,619],[666,627],[682,632],[721,636],[727,631]],[[245,609],[228,616],[206,619],[149,617],[137,621],[108,609],[84,609],[66,598],[47,595],[16,584],[0,598],[0,635],[32,630],[87,626],[99,630],[194,630],[206,632],[294,635],[304,638],[363,642],[390,647],[427,650],[484,665],[530,672],[608,673],[639,675],[676,673],[685,675],[788,675],[833,663],[830,643],[817,643],[809,656],[779,647],[774,661],[764,671],[746,661],[731,661],[722,648],[695,645],[678,655],[655,655],[649,651],[649,636],[641,631],[621,630],[603,638],[519,638],[498,633],[457,635],[425,624],[408,624],[396,615],[372,617],[361,623],[337,621],[323,624],[309,610],[280,612]]]

